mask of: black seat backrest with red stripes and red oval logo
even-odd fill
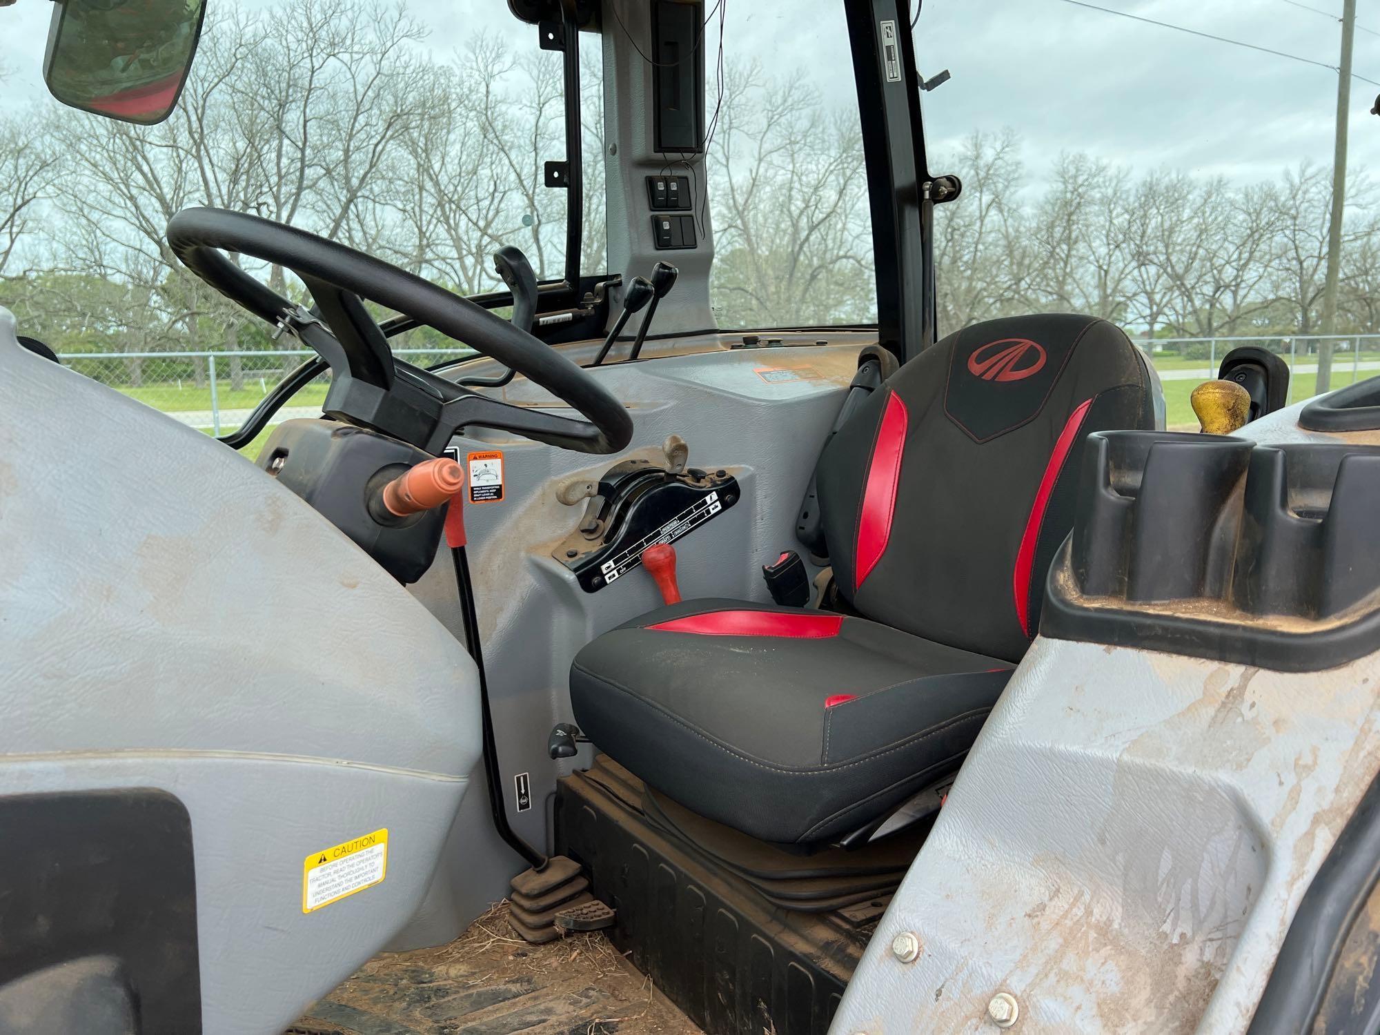
[[[936,342],[820,457],[839,592],[886,625],[1020,658],[1072,524],[1083,440],[1154,428],[1156,384],[1092,316],[1012,316]]]

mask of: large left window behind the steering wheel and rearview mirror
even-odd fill
[[[152,127],[48,97],[32,46],[47,8],[4,10],[0,304],[68,366],[228,433],[309,357],[170,254],[167,219],[196,204],[293,224],[464,295],[505,290],[491,259],[504,244],[538,280],[566,276],[567,192],[545,185],[566,157],[563,55],[505,4],[211,3],[182,99]],[[607,262],[598,39],[582,37],[586,273]],[[305,297],[282,269],[251,269]],[[421,364],[466,355],[429,328],[392,345]],[[309,385],[279,418],[319,414],[324,393]]]

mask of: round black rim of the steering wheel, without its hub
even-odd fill
[[[512,367],[584,417],[574,420],[516,407],[446,381],[446,391],[454,389],[454,399],[448,402],[453,404],[454,418],[460,420],[458,426],[476,424],[505,428],[580,453],[617,453],[632,440],[632,418],[627,407],[580,366],[487,309],[389,262],[286,224],[224,208],[182,210],[168,221],[167,239],[172,254],[188,269],[230,301],[272,324],[280,324],[288,317],[290,326],[299,330],[291,316],[302,310],[235,265],[226,251],[290,269],[313,294],[322,287],[341,293],[334,299],[335,305],[330,306],[335,319],[326,320],[333,324],[327,348],[323,348],[320,335],[313,338],[298,334],[322,353],[337,375],[341,373],[341,360],[327,355],[337,346],[344,349],[335,324],[342,319],[342,312],[357,322],[363,313],[359,299],[367,298]],[[342,309],[341,301],[349,305]],[[320,297],[317,305],[327,308],[326,299]],[[393,357],[378,324],[367,316],[363,320],[368,326],[359,330],[364,338],[370,338],[375,360],[384,362],[386,357],[389,366],[386,371],[378,371],[382,381],[392,384],[393,371],[403,370],[407,371],[408,382],[424,386],[429,382],[435,391],[440,378],[425,375],[421,368]],[[373,339],[375,334],[377,341]],[[378,355],[379,348],[382,356]],[[425,381],[421,375],[425,375]]]

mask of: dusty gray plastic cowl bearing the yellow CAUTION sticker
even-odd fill
[[[266,472],[4,309],[0,559],[0,796],[181,799],[204,1031],[282,1032],[421,903],[480,752],[473,662]],[[384,879],[306,911],[308,860],[379,829]]]

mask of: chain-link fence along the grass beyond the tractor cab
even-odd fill
[[[1217,366],[1238,345],[1256,345],[1285,359],[1292,377],[1289,400],[1317,393],[1318,349],[1333,345],[1332,388],[1350,385],[1380,374],[1380,334],[1317,334],[1221,337],[1221,338],[1136,338],[1150,353],[1165,386],[1170,428],[1196,428],[1188,396],[1202,381],[1217,375]],[[208,435],[228,435],[244,424],[283,377],[316,353],[306,349],[259,352],[121,352],[63,353],[63,364],[110,385],[141,403],[161,410]],[[396,355],[421,367],[472,356],[471,349],[396,349]],[[315,417],[322,411],[330,375],[302,388],[277,413],[279,421]],[[265,431],[246,451],[253,457],[266,439]]]

